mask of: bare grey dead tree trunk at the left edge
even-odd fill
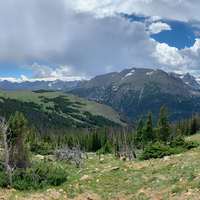
[[[12,175],[16,171],[16,165],[11,167],[9,165],[9,151],[11,150],[11,145],[10,145],[10,139],[8,140],[8,136],[11,134],[11,132],[6,133],[6,122],[4,118],[1,118],[0,122],[0,133],[2,134],[3,137],[3,149],[4,149],[4,155],[5,159],[4,161],[0,161],[3,165],[5,165],[5,168],[0,165],[0,167],[6,172],[8,181],[11,184],[12,183]],[[11,137],[10,137],[11,138]],[[9,148],[10,147],[10,148]]]

